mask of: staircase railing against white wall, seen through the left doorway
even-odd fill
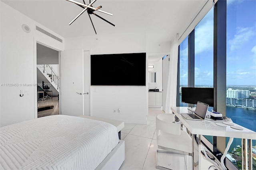
[[[53,68],[54,65],[44,64],[44,65],[37,65],[37,68],[41,71],[41,73],[46,77],[46,79],[52,84],[52,87],[59,92],[59,75],[57,71]]]

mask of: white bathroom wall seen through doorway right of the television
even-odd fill
[[[148,72],[156,72],[156,83],[148,83],[148,89],[159,89],[162,91],[162,59],[158,61],[148,61],[148,65],[154,65],[154,68],[149,68]]]

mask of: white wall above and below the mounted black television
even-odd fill
[[[96,35],[66,38],[65,50],[84,49],[94,54],[146,52],[144,33]],[[148,65],[146,61],[146,65]],[[146,69],[146,75],[148,75]],[[148,78],[146,76],[146,82]],[[122,120],[126,123],[146,123],[148,115],[148,87],[136,86],[92,86],[91,115]],[[113,110],[120,108],[121,113]]]

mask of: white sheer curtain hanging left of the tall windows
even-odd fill
[[[177,71],[178,71],[178,37],[177,34],[171,41],[169,74],[166,95],[165,113],[172,113],[171,107],[176,106]]]

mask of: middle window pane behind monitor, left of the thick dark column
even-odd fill
[[[213,87],[213,12],[212,8],[195,27],[195,87]],[[213,144],[213,136],[204,137]]]

